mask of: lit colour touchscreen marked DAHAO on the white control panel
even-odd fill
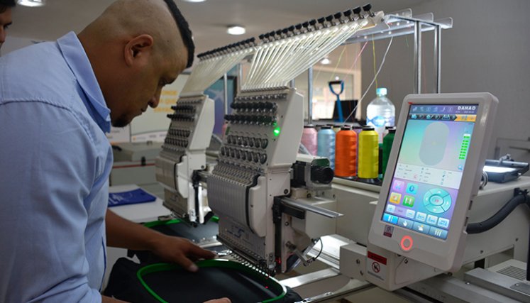
[[[411,104],[382,221],[446,239],[478,104]]]

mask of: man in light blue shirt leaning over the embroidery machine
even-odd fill
[[[79,35],[0,58],[0,302],[113,302],[106,244],[191,271],[214,257],[106,209],[104,133],[157,106],[193,53],[172,0],[118,0]]]

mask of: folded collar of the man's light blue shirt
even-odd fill
[[[96,123],[98,123],[102,131],[109,133],[111,131],[111,110],[106,106],[103,93],[99,88],[96,75],[94,75],[92,65],[90,65],[87,54],[84,52],[81,41],[79,41],[74,32],[70,32],[57,39],[57,45],[59,45],[62,56],[65,57],[79,86],[83,89],[84,94],[87,95],[90,104],[94,106],[97,114],[101,116],[101,119],[96,119]]]

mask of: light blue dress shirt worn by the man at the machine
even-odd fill
[[[109,114],[74,33],[0,57],[0,302],[101,302]]]

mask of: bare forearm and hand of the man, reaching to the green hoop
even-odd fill
[[[216,255],[199,248],[191,241],[166,236],[158,231],[123,219],[114,212],[106,211],[106,241],[108,246],[135,250],[150,250],[159,257],[181,265],[189,271],[197,271],[193,260],[211,259]]]

